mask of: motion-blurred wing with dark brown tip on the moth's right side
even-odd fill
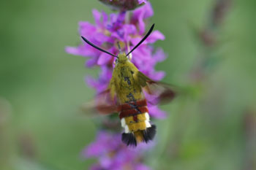
[[[138,82],[146,92],[147,101],[150,104],[163,104],[170,102],[176,96],[174,87],[164,82],[155,82],[150,78],[146,77],[142,72],[137,74]]]

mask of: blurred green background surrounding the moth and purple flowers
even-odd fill
[[[152,0],[151,23],[165,34],[157,42],[168,58],[157,69],[165,82],[187,95],[162,107],[158,144],[146,162],[165,170],[255,169],[256,36],[255,1],[233,0],[205,47],[197,31],[209,23],[214,0]],[[79,107],[94,96],[84,77],[86,58],[64,52],[77,46],[78,21],[94,23],[99,1],[1,1],[0,16],[0,169],[88,169],[80,151],[97,127]],[[206,77],[191,78],[200,58],[210,60]],[[211,59],[213,58],[213,59]]]

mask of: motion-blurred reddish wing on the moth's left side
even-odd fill
[[[111,96],[110,91],[110,88],[108,88],[102,93],[97,94],[94,101],[83,104],[83,112],[92,114],[98,113],[102,115],[117,112],[116,100],[113,96]]]

